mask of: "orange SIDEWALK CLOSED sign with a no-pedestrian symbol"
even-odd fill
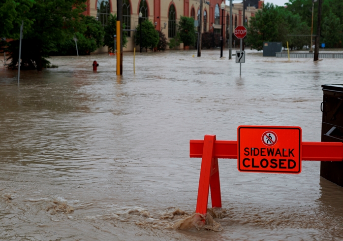
[[[238,171],[301,172],[300,127],[239,126],[237,135]]]

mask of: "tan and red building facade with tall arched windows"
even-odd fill
[[[247,0],[253,2],[253,6],[246,4],[245,21],[249,24],[249,19],[254,16],[256,8],[256,0]],[[261,2],[258,1],[257,2]],[[107,25],[109,14],[117,13],[117,1],[115,0],[88,0],[85,14],[98,17],[98,20],[103,26]],[[203,18],[201,32],[220,33],[221,31],[221,16],[220,9],[221,0],[205,0],[203,3]],[[142,18],[148,19],[154,23],[156,30],[162,31],[167,38],[172,38],[176,35],[176,24],[180,21],[181,16],[192,17],[198,20],[200,16],[200,0],[123,0],[123,22],[126,29],[136,29],[138,25],[138,14],[142,12]],[[224,9],[224,39],[228,34],[230,23],[230,6],[225,6]],[[231,21],[233,28],[243,24],[243,3],[235,3],[232,8]],[[165,27],[164,27],[165,26]],[[128,43],[124,51],[133,51],[134,32],[128,32]],[[181,46],[182,47],[182,46]],[[97,50],[97,52],[107,52],[107,47]]]

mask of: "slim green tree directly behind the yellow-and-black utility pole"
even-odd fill
[[[125,24],[123,24],[123,29]],[[104,46],[107,45],[110,51],[114,53],[114,35],[117,35],[117,14],[110,14],[107,20],[107,26],[105,26]],[[127,44],[126,32],[123,31],[123,46]]]

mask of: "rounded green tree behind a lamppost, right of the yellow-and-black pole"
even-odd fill
[[[141,27],[140,27],[141,26]],[[135,43],[136,45],[140,44],[140,31],[142,30],[142,48],[151,49],[153,50],[157,47],[159,41],[159,34],[155,29],[155,26],[149,20],[145,20],[141,24],[139,24],[136,28],[136,37]]]

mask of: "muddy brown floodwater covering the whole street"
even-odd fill
[[[286,125],[320,141],[321,84],[343,82],[340,59],[247,52],[242,77],[227,50],[137,53],[135,74],[125,53],[120,77],[114,57],[54,57],[19,86],[0,69],[0,240],[343,240],[343,188],[319,162],[294,175],[219,159],[222,209],[205,228],[186,222],[201,164],[190,139]]]

